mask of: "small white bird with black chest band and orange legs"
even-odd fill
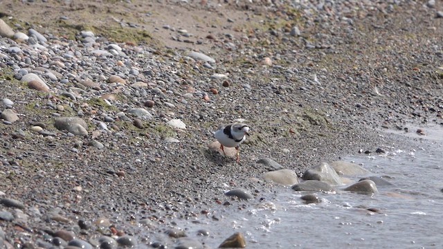
[[[249,127],[247,124],[235,123],[235,124],[221,124],[214,136],[220,143],[220,149],[224,152],[224,147],[235,147],[237,150],[237,163],[240,162],[240,144],[246,140]]]

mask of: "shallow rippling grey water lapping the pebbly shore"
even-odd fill
[[[344,158],[389,176],[393,185],[377,185],[373,196],[318,193],[324,202],[308,205],[300,199],[307,193],[275,187],[253,208],[238,210],[235,203],[217,210],[220,221],[179,225],[188,234],[210,231],[199,239],[210,248],[234,232],[245,235],[247,248],[443,248],[442,142],[432,142],[428,149]]]

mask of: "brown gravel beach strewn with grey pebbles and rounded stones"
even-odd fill
[[[275,169],[420,142],[443,125],[442,11],[0,1],[0,248],[212,248],[174,221],[217,225]],[[214,143],[228,122],[251,127],[240,163]]]

